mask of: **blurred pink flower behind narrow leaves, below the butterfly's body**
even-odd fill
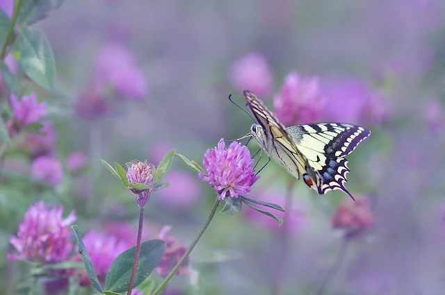
[[[287,219],[284,220],[284,222],[290,231],[296,233],[304,227],[305,212],[295,198],[291,200],[291,207],[287,208],[287,196],[281,191],[266,189],[265,191],[252,194],[251,197],[252,199],[257,199],[259,201],[280,205],[286,212],[275,211],[274,214],[281,218],[287,216]],[[260,212],[257,212],[257,210],[243,210],[243,212],[245,217],[251,221],[252,224],[257,226],[266,227],[270,230],[282,230],[284,228],[283,226],[279,226],[277,221],[264,214],[261,214]]]

